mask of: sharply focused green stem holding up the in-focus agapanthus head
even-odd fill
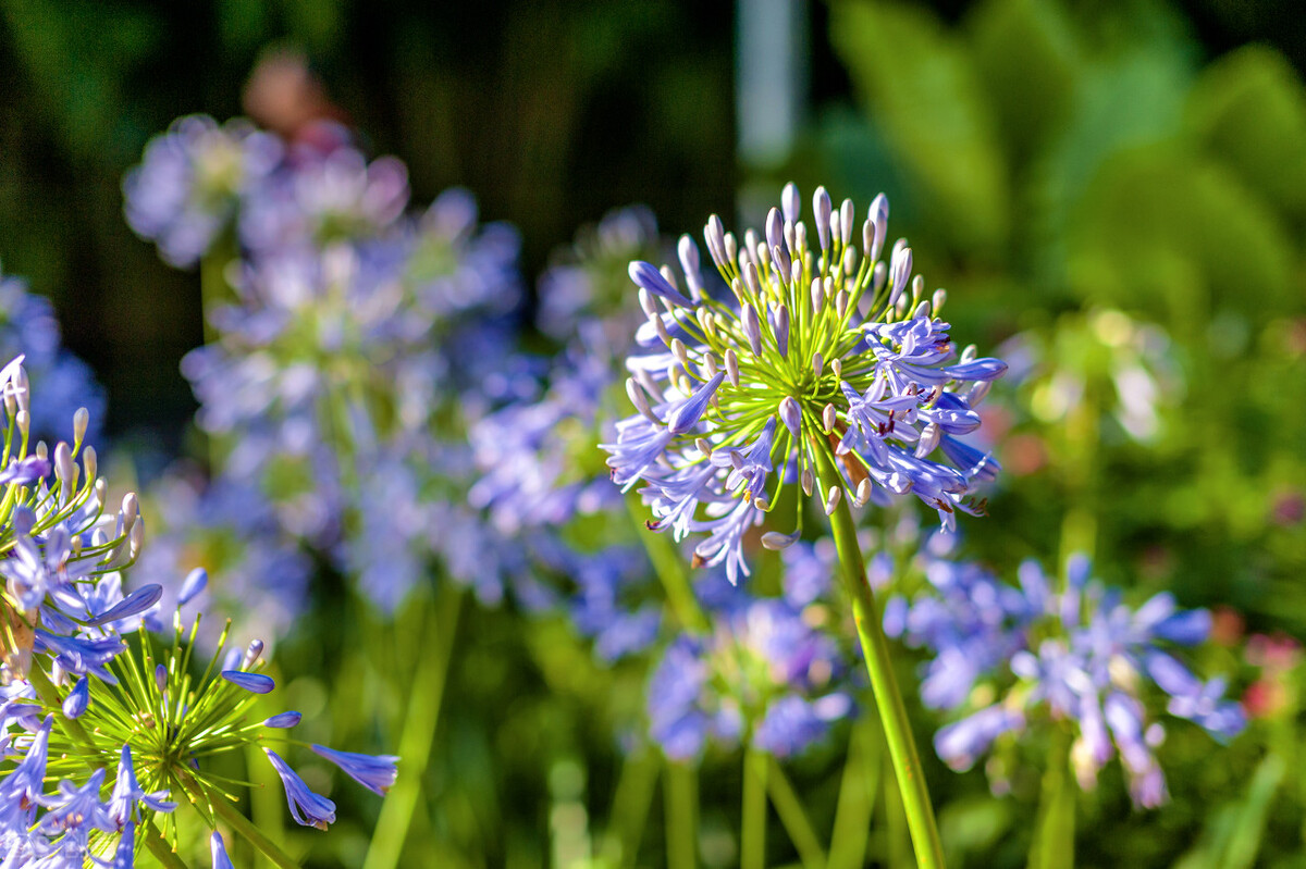
[[[835,459],[829,451],[816,449],[815,453],[820,463],[821,479],[841,481],[842,475],[835,468]],[[857,525],[853,522],[853,511],[848,506],[846,497],[840,500],[838,508],[831,515],[831,527],[835,532],[835,548],[838,552],[844,585],[853,599],[857,638],[862,643],[866,671],[871,677],[875,703],[880,710],[889,758],[893,762],[893,771],[902,795],[902,806],[906,810],[908,827],[916,846],[916,859],[923,869],[942,869],[944,865],[943,846],[939,842],[939,830],[934,821],[934,808],[930,805],[930,793],[921,770],[921,758],[916,750],[916,741],[912,739],[912,723],[908,720],[906,706],[902,705],[902,694],[899,692],[897,678],[893,676],[893,659],[889,655],[888,639],[884,637],[880,608],[875,603],[870,583],[866,581],[866,562],[862,558],[861,544],[857,541]]]

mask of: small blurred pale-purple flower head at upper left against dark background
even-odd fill
[[[170,265],[189,267],[235,219],[282,159],[281,141],[246,120],[206,115],[172,121],[123,179],[127,223]]]

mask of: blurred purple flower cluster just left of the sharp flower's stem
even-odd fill
[[[666,648],[649,684],[649,735],[677,759],[696,757],[709,739],[798,754],[852,709],[835,689],[838,671],[837,645],[801,609],[735,595],[714,633],[686,633]]]

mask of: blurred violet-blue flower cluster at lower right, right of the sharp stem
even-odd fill
[[[1169,592],[1131,607],[1089,581],[1083,557],[1071,560],[1063,591],[1033,561],[1021,565],[1019,588],[970,564],[934,561],[926,575],[936,594],[891,609],[887,628],[934,655],[926,702],[968,710],[935,736],[956,769],[969,769],[1004,735],[1050,719],[1075,733],[1071,763],[1081,788],[1118,753],[1131,797],[1151,808],[1166,799],[1155,753],[1165,728],[1148,711],[1153,688],[1169,715],[1216,739],[1243,728],[1242,709],[1224,699],[1224,680],[1202,681],[1171,650],[1207,639],[1204,609],[1181,611]]]

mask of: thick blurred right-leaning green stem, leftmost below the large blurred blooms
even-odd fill
[[[400,776],[381,806],[381,817],[376,821],[363,869],[393,869],[398,865],[422,791],[440,719],[449,660],[453,656],[462,590],[445,583],[438,607],[439,612],[428,621],[427,629],[426,647],[432,651],[421,659],[421,669],[413,681],[407,719],[400,736]]]

